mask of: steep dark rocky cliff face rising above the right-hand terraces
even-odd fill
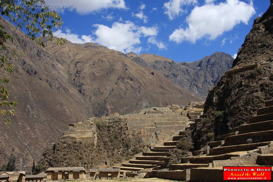
[[[272,20],[273,1],[266,13],[254,20],[232,70],[209,92],[205,118],[194,132],[196,149],[206,145],[209,133],[226,134],[230,128],[246,123],[248,117],[255,115],[256,109],[264,106],[264,100],[273,99]]]

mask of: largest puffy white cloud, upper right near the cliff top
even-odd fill
[[[217,5],[194,7],[186,20],[188,27],[175,29],[169,39],[176,43],[195,43],[203,37],[215,40],[241,22],[248,24],[255,13],[252,1],[247,4],[239,0],[227,0]]]

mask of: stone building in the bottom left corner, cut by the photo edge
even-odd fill
[[[26,174],[24,171],[0,172],[0,182],[24,182]]]

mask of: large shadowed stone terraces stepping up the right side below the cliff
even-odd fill
[[[199,118],[195,119],[194,123],[199,121]],[[193,130],[196,126],[194,123],[185,131]],[[171,146],[172,143],[167,144]],[[273,166],[273,100],[266,101],[265,107],[258,109],[257,115],[250,117],[248,124],[215,137],[215,141],[208,145],[209,149],[193,151],[193,156],[182,158],[182,164],[169,165],[168,171],[154,170],[147,177],[178,181],[222,181],[223,166]]]

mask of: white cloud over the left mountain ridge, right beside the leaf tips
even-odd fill
[[[60,29],[53,33],[57,37],[67,38],[72,43],[83,44],[86,42],[95,42],[91,35],[78,35],[72,34],[69,29],[66,29],[65,33],[63,33]]]

